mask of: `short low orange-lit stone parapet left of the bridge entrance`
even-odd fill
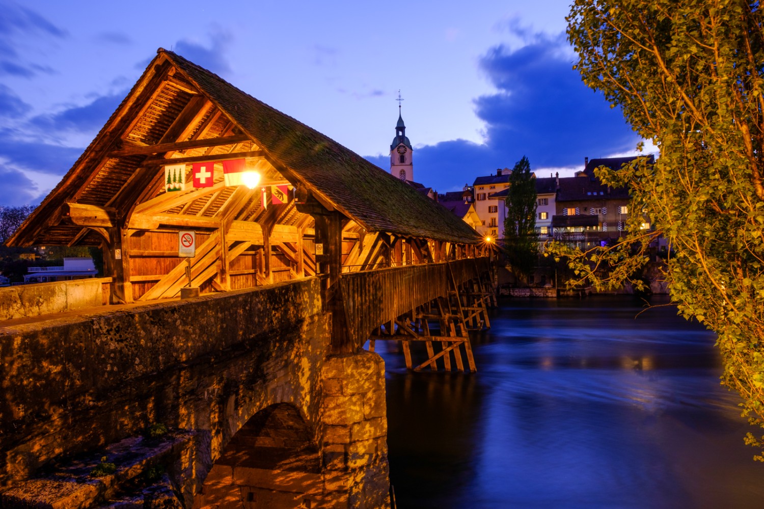
[[[102,304],[105,279],[76,279],[0,288],[0,325],[13,318],[95,308]]]

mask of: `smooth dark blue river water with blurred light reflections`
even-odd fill
[[[504,302],[474,375],[383,351],[398,507],[764,507],[714,334],[639,306]]]

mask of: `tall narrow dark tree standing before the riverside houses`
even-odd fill
[[[528,158],[515,163],[507,188],[507,217],[504,218],[504,243],[510,266],[527,277],[536,264],[536,179]]]

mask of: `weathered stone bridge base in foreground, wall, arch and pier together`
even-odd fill
[[[0,507],[389,507],[384,362],[320,286],[0,324]]]

